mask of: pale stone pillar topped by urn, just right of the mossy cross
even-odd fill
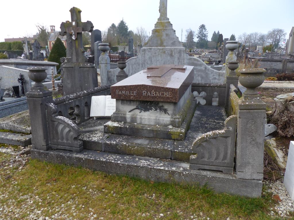
[[[99,43],[99,50],[102,51],[102,53],[99,57],[101,86],[105,86],[108,84],[107,71],[110,70],[110,58],[107,54],[107,51],[109,50],[109,44],[108,43]]]

